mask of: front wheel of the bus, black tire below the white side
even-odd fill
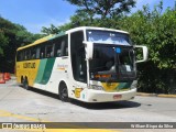
[[[67,102],[68,101],[68,89],[65,82],[59,84],[58,92],[59,92],[59,99],[62,101]]]

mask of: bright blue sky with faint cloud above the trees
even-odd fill
[[[142,9],[144,4],[152,9],[161,0],[136,0],[132,12]],[[175,0],[163,0],[164,10],[174,7]],[[23,25],[29,32],[40,33],[42,26],[56,26],[69,22],[77,7],[66,0],[0,0],[0,16]]]

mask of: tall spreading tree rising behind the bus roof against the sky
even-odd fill
[[[116,21],[130,12],[135,6],[135,0],[66,0],[78,7],[70,16],[70,22],[64,25],[42,28],[45,34],[56,34],[77,26],[105,26],[113,28]]]

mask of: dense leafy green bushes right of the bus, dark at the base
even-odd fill
[[[142,11],[118,22],[130,32],[134,44],[150,50],[148,62],[138,65],[140,91],[170,94],[175,87],[172,81],[176,81],[176,11],[162,10],[162,2],[153,11],[144,6]]]

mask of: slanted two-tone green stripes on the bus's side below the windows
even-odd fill
[[[42,84],[42,85],[47,84],[52,75],[54,63],[55,63],[55,58],[47,58],[47,59],[41,61],[35,82]]]

